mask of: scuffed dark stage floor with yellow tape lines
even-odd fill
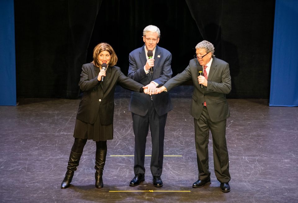
[[[211,185],[198,179],[192,88],[170,92],[174,109],[165,127],[164,186],[152,184],[151,136],[147,137],[145,182],[133,178],[134,135],[128,111],[130,92],[115,93],[114,139],[107,141],[104,187],[95,188],[95,142],[88,141],[71,186],[61,189],[79,99],[19,99],[0,106],[0,202],[298,202],[298,108],[269,107],[266,99],[228,99],[231,191],[220,191],[209,139]]]

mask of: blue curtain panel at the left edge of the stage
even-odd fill
[[[13,0],[0,1],[0,105],[16,105],[15,18]]]

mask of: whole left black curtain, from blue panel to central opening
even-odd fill
[[[78,98],[101,2],[15,1],[18,97]]]

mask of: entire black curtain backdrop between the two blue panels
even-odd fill
[[[274,1],[15,1],[17,97],[77,98],[82,64],[107,42],[128,72],[142,30],[156,25],[159,46],[182,72],[203,39],[230,64],[229,98],[269,98]],[[153,12],[154,11],[154,12]],[[184,85],[191,85],[186,82]]]

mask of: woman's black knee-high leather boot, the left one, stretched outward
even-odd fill
[[[65,178],[61,183],[61,188],[65,189],[69,187],[72,177],[74,176],[75,170],[77,170],[77,166],[79,166],[79,161],[81,159],[82,154],[70,151],[70,156],[67,165],[67,171],[65,173]]]

